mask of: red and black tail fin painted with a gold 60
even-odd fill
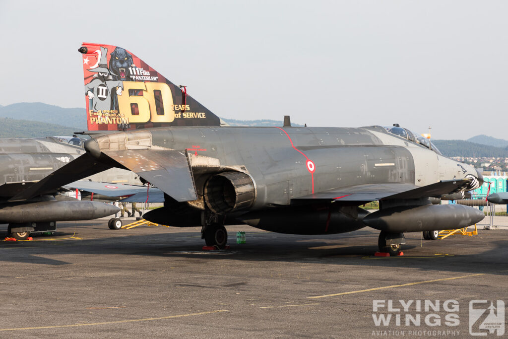
[[[220,118],[121,47],[83,43],[89,131],[163,126],[220,126]]]

